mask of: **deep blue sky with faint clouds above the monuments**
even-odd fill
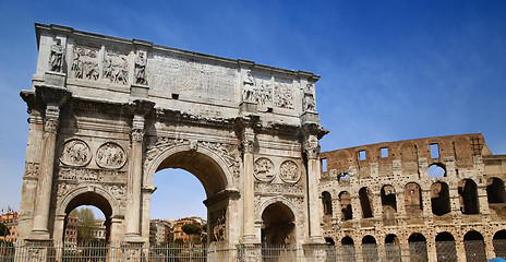
[[[482,132],[506,154],[506,1],[8,0],[2,10],[0,207],[19,209],[28,131],[19,93],[36,68],[35,22],[317,73],[323,151]],[[155,182],[153,216],[205,215],[191,175]]]

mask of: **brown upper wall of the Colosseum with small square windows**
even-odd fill
[[[434,155],[434,150],[431,155],[431,145],[437,145],[437,155]],[[425,160],[427,166],[444,166],[447,162],[455,162],[457,169],[471,168],[473,156],[477,155],[492,155],[481,133],[362,145],[323,152],[321,158],[325,159],[323,162],[326,162],[327,170],[335,169],[340,174],[348,172],[349,167],[357,167],[360,178],[369,178],[387,177],[394,172],[417,174],[419,163]]]

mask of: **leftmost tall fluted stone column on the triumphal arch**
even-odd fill
[[[44,135],[38,177],[37,198],[34,215],[34,227],[31,239],[49,240],[48,219],[51,205],[52,174],[55,171],[55,152],[60,108],[58,103],[51,102],[46,107],[44,119]]]

